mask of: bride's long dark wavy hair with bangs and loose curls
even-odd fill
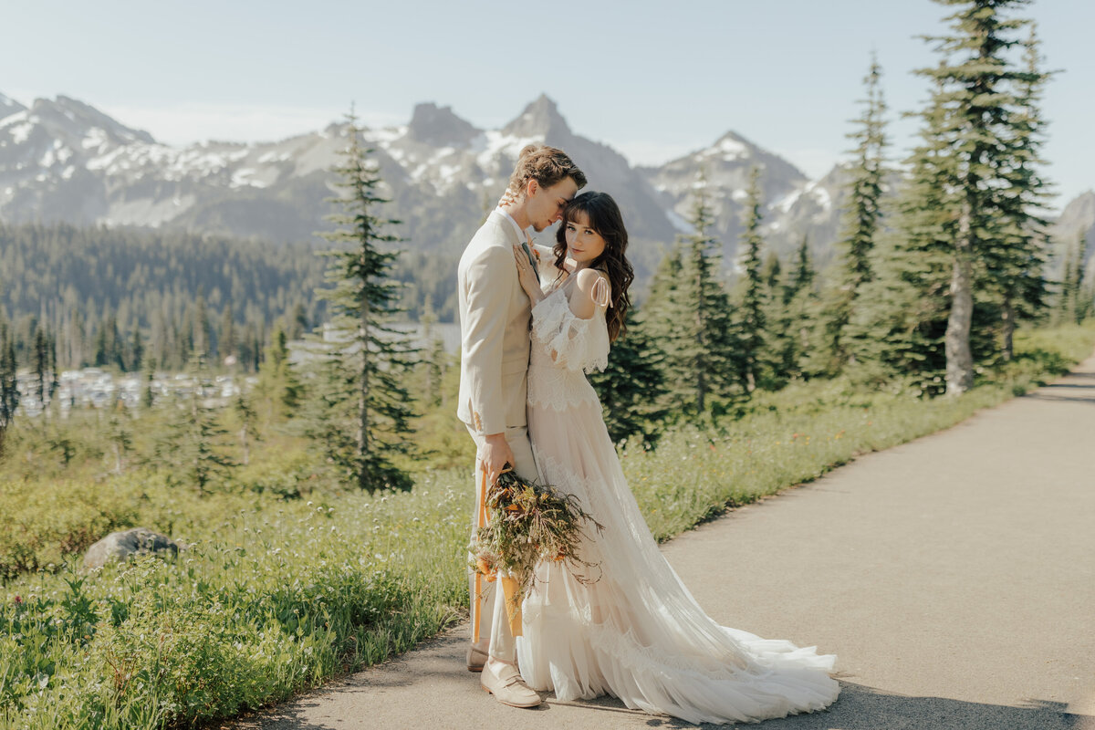
[[[604,239],[604,251],[590,262],[589,267],[602,271],[609,278],[612,287],[612,306],[604,313],[609,327],[609,339],[616,337],[626,329],[624,317],[631,306],[627,289],[635,280],[635,269],[627,260],[627,229],[623,227],[623,216],[620,207],[608,193],[588,192],[572,199],[563,210],[563,223],[555,232],[555,266],[563,268],[566,260],[566,224],[574,222],[578,213],[585,213],[589,228]]]

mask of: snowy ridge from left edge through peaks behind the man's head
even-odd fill
[[[3,97],[0,219],[77,224],[174,225],[194,231],[312,240],[332,208],[328,169],[346,126],[276,142],[203,142],[174,148],[91,106],[60,96],[30,108]],[[540,97],[502,129],[477,129],[434,104],[406,126],[367,129],[399,234],[419,251],[459,251],[504,189],[529,142],[580,160],[590,186],[611,189],[636,231],[671,239],[654,190],[611,148],[574,135]]]

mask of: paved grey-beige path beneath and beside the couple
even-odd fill
[[[839,654],[830,710],[764,730],[1095,730],[1095,357],[664,552],[719,622]],[[234,727],[692,727],[611,698],[504,707],[465,635]]]

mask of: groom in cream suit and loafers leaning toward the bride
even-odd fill
[[[514,246],[532,258],[526,230],[542,231],[563,216],[563,208],[586,176],[553,147],[521,150],[507,195],[472,237],[460,257],[457,291],[460,312],[460,396],[457,416],[475,440],[475,488],[494,484],[512,464],[526,478],[538,476],[525,420],[532,312],[514,266]],[[533,266],[535,263],[533,262]],[[476,505],[474,530],[480,528]],[[472,616],[479,618],[479,642],[468,648],[468,669],[482,671],[480,682],[498,702],[535,707],[540,695],[517,671],[517,647],[497,582],[475,594],[470,578]],[[473,629],[474,630],[474,629]]]

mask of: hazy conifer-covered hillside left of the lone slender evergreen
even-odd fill
[[[197,345],[254,369],[276,321],[296,337],[319,320],[322,271],[310,245],[0,224],[0,322],[24,362],[42,327],[60,368],[181,369]]]

